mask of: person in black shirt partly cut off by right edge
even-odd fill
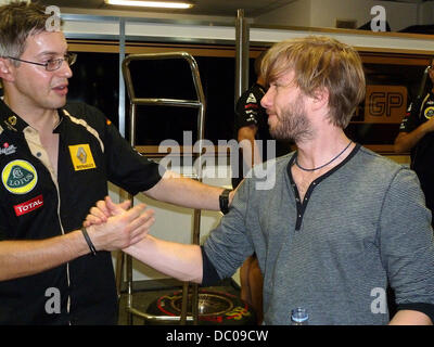
[[[410,103],[404,117],[399,133],[395,139],[396,153],[410,151],[410,167],[418,175],[426,207],[434,211],[434,59],[426,68],[429,85],[425,93],[421,93]],[[434,227],[433,219],[431,224]]]

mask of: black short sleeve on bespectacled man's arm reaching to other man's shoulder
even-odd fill
[[[138,153],[105,118],[104,155],[108,180],[132,195],[154,187],[165,168]]]

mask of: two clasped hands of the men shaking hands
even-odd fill
[[[129,209],[130,205],[130,201],[115,204],[106,196],[90,209],[81,231],[93,254],[127,248],[148,235],[155,222],[154,211],[144,204]]]

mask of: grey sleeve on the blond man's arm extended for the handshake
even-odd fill
[[[254,247],[245,228],[245,215],[248,202],[251,180],[244,180],[240,185],[231,208],[225,215],[220,224],[206,239],[203,252],[213,265],[220,279],[231,277],[253,254]],[[207,273],[204,273],[204,279]]]

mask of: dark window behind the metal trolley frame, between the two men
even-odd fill
[[[195,56],[206,102],[205,139],[233,138],[234,59]],[[252,65],[252,64],[251,64]],[[183,60],[133,61],[130,64],[137,98],[196,100],[189,65]],[[118,54],[80,52],[73,66],[69,100],[100,108],[118,126]],[[126,131],[129,98],[126,90]],[[183,131],[197,137],[197,110],[169,106],[137,106],[138,145],[158,145],[173,139],[182,144]],[[127,133],[127,137],[129,134]]]

